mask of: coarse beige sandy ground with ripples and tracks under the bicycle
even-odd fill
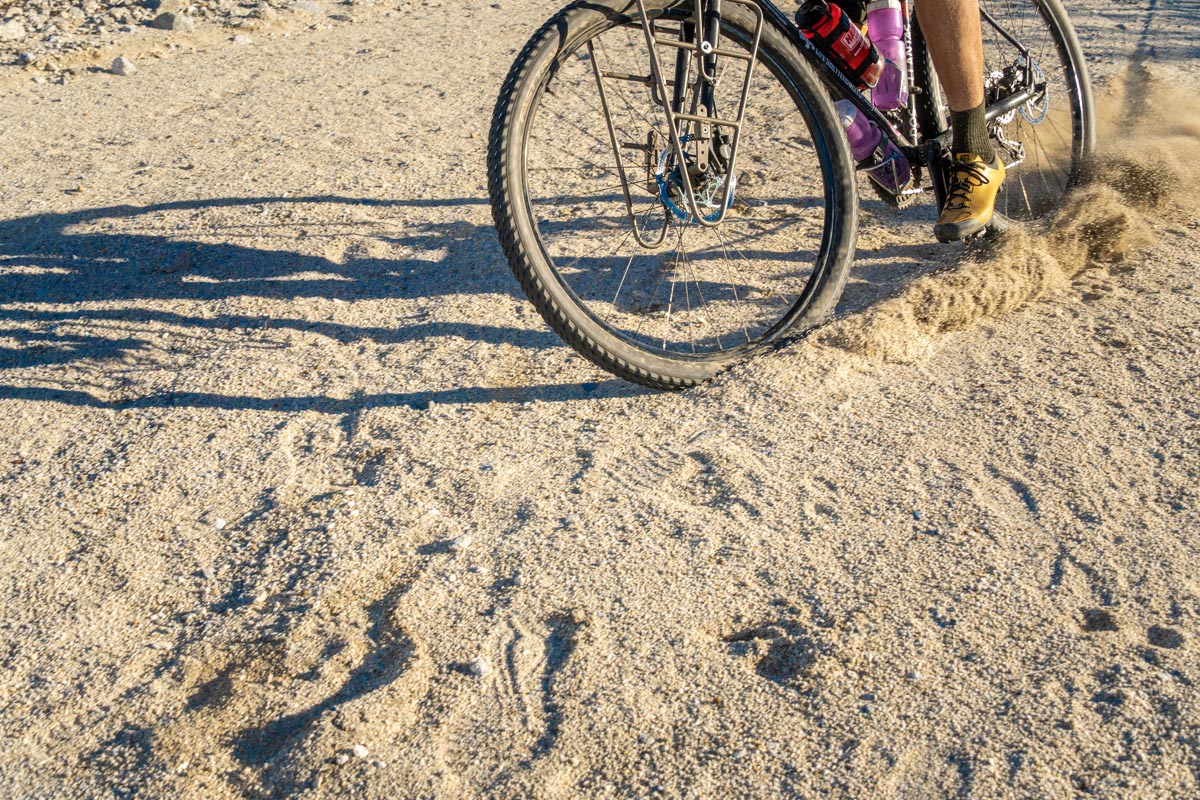
[[[1195,213],[917,330],[1000,257],[864,199],[838,335],[648,392],[492,234],[547,13],[0,78],[0,793],[1200,794]],[[1195,144],[1196,4],[1072,13]]]

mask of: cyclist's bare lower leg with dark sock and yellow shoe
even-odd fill
[[[954,170],[946,207],[934,227],[941,241],[952,241],[991,222],[1004,164],[988,138],[979,0],[918,0],[916,5],[954,128]]]

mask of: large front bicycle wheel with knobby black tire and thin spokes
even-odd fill
[[[659,34],[688,36],[691,0],[646,6]],[[721,48],[751,53],[754,30],[751,13],[724,5]],[[658,52],[666,77],[696,91],[695,71],[671,73],[680,50]],[[736,114],[748,64],[719,61],[715,115]],[[857,197],[832,103],[769,22],[751,74],[733,175],[692,179],[704,216],[719,215],[714,198],[734,181],[716,227],[683,200],[686,173],[629,0],[569,6],[504,83],[488,184],[509,264],[568,344],[625,379],[695,385],[821,321],[845,285]]]

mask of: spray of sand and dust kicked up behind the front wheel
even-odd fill
[[[1130,79],[1132,78],[1132,79]],[[1010,229],[968,247],[950,269],[838,320],[820,335],[877,362],[911,362],[937,337],[1068,288],[1090,267],[1124,261],[1153,243],[1153,223],[1194,218],[1200,179],[1200,103],[1141,67],[1097,94],[1097,155],[1039,231]]]

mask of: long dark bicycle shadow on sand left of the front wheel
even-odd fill
[[[425,221],[389,219],[386,225],[380,227],[362,222],[330,222],[302,212],[305,207],[330,204],[347,210],[416,209]],[[544,327],[530,330],[491,320],[448,323],[406,319],[395,325],[379,326],[313,319],[301,308],[284,315],[221,308],[226,305],[223,301],[245,307],[247,299],[283,302],[330,299],[437,301],[449,295],[493,295],[523,303],[524,299],[504,265],[491,227],[470,223],[461,216],[445,218],[446,210],[452,213],[454,207],[484,204],[484,198],[372,200],[338,196],[244,197],[116,205],[0,221],[0,297],[4,297],[0,306],[0,372],[65,367],[116,357],[136,359],[151,347],[151,342],[149,335],[131,333],[131,325],[182,327],[185,336],[187,331],[272,327],[314,332],[340,343],[366,338],[377,344],[400,345],[434,337],[457,337],[533,351],[565,347]],[[204,237],[210,241],[188,236],[188,224],[205,213],[244,213],[246,210],[278,213],[260,224],[239,223],[203,229]],[[280,216],[286,218],[281,221]],[[430,221],[431,216],[440,219]],[[299,252],[301,248],[286,243],[275,248],[246,243],[264,239],[275,243],[281,239],[286,242],[286,236],[280,235],[281,227],[295,229],[295,236],[300,239],[324,236],[331,242],[354,241],[343,259],[312,254],[313,248],[307,246],[305,252]],[[221,241],[211,241],[215,237],[212,234]],[[373,247],[355,248],[364,242]],[[403,255],[371,254],[379,249]],[[180,309],[180,301],[186,309]],[[211,313],[214,307],[217,313]],[[530,385],[516,392],[511,389],[458,386],[358,396],[344,401],[319,395],[252,397],[184,390],[115,402],[78,384],[47,387],[19,385],[16,380],[0,383],[0,398],[76,405],[284,408],[330,413],[390,405],[425,408],[431,402],[560,402],[634,393],[641,393],[641,390],[608,380]]]

